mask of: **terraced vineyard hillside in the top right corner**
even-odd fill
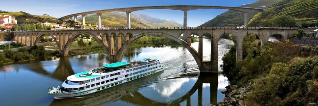
[[[275,24],[275,21],[282,23],[282,25]],[[286,26],[286,24],[291,25]],[[318,1],[283,0],[255,15],[247,26],[318,26]]]

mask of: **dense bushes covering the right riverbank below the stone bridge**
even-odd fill
[[[231,35],[230,39],[235,39]],[[235,41],[234,41],[235,42]],[[281,106],[318,102],[318,46],[293,42],[260,42],[252,34],[243,40],[243,60],[236,64],[236,44],[222,58],[231,85],[217,105]],[[235,67],[237,66],[237,67]]]

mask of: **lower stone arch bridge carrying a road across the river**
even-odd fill
[[[13,32],[15,41],[27,46],[38,45],[40,39],[45,35],[50,35],[56,42],[61,56],[67,56],[72,42],[81,34],[88,34],[97,39],[107,52],[110,62],[121,61],[127,47],[136,39],[146,35],[162,35],[177,41],[183,45],[196,60],[200,72],[217,73],[218,72],[218,39],[224,34],[232,34],[237,41],[236,60],[242,60],[242,42],[245,36],[256,34],[261,41],[268,41],[274,34],[280,34],[283,39],[291,37],[297,29],[295,28],[277,28],[267,27],[248,27],[244,29],[235,29],[235,27],[203,27],[192,29],[126,29],[126,30],[57,30],[57,31],[26,31]],[[203,34],[211,35],[211,60],[203,60]],[[183,37],[181,37],[183,35]],[[199,47],[196,51],[191,46],[191,35],[199,36]],[[114,37],[116,41],[114,41]],[[121,38],[124,42],[121,42]],[[109,38],[107,40],[107,38]],[[116,42],[116,43],[114,43]]]

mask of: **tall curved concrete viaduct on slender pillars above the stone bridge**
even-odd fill
[[[169,9],[169,10],[180,10],[183,11],[183,28],[187,27],[187,12],[191,10],[199,9],[228,9],[234,11],[244,12],[244,25],[248,23],[248,14],[251,12],[260,12],[264,9],[250,8],[250,7],[225,7],[225,6],[204,6],[204,5],[166,5],[166,6],[144,6],[144,7],[129,7],[129,8],[116,8],[116,9],[106,9],[106,10],[97,10],[97,11],[87,11],[81,13],[75,13],[61,17],[62,20],[72,20],[77,21],[77,16],[81,15],[83,19],[83,25],[85,25],[85,17],[87,14],[97,14],[97,28],[101,28],[101,15],[105,12],[126,12],[127,16],[127,28],[130,29],[130,13],[138,10],[149,10],[149,9]]]

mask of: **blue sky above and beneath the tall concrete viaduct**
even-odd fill
[[[159,5],[211,5],[237,7],[256,1],[257,0],[2,0],[0,2],[0,10],[25,11],[35,15],[48,14],[60,18],[73,13],[123,7]],[[12,4],[14,6],[12,6]],[[227,10],[203,9],[188,11],[187,25],[190,27],[199,26],[225,11]],[[183,11],[156,9],[134,11],[133,13],[143,13],[160,19],[171,18],[176,22],[183,24]]]

